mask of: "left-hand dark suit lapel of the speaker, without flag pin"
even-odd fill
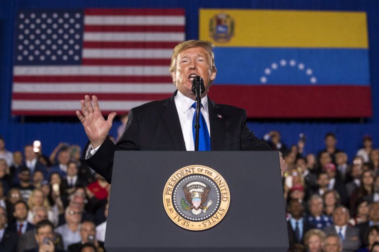
[[[170,134],[172,143],[175,146],[175,150],[185,151],[185,143],[183,139],[183,133],[180,127],[180,121],[178,116],[178,111],[175,106],[174,97],[176,95],[177,90],[171,96],[170,99],[167,99],[163,103],[163,112],[162,116],[167,125],[167,130]]]

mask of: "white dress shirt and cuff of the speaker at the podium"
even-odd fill
[[[191,98],[184,96],[182,93],[180,93],[179,90],[174,99],[175,99],[176,110],[179,116],[181,131],[183,133],[185,149],[187,151],[194,151],[195,143],[194,143],[194,136],[192,133],[192,122],[193,122],[193,118],[195,114],[195,109],[192,108],[192,104],[195,101],[192,100]],[[209,110],[208,110],[208,96],[207,95],[201,99],[201,104],[203,106],[201,107],[200,111],[203,114],[205,123],[207,124],[208,133],[210,137],[211,130],[209,127]],[[100,146],[93,149],[92,146],[89,145],[86,151],[85,159],[88,159],[92,155],[94,155],[99,148]]]

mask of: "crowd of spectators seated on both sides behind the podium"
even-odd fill
[[[379,251],[379,149],[363,137],[351,163],[337,139],[303,154],[278,132],[263,139],[282,153],[291,251]],[[7,151],[0,137],[0,251],[105,251],[110,184],[81,160],[77,145],[50,156],[32,145]]]

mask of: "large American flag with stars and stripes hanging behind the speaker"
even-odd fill
[[[74,115],[84,94],[104,113],[167,98],[172,49],[184,39],[183,9],[19,11],[12,113]]]

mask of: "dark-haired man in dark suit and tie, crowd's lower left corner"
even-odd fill
[[[34,228],[34,225],[26,220],[28,216],[28,205],[24,201],[18,201],[15,204],[15,210],[13,215],[16,218],[16,222],[9,225],[8,229],[12,232],[18,233],[18,235],[24,234]]]

